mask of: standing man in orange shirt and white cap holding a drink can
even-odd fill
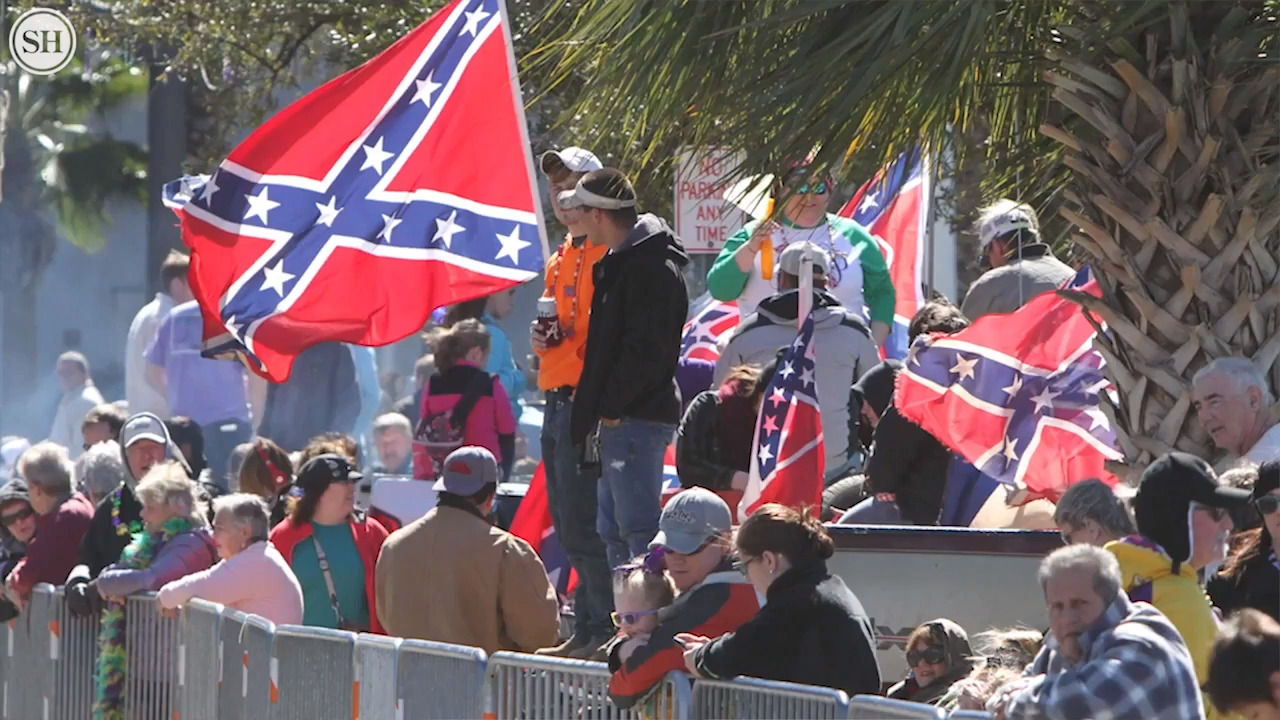
[[[570,565],[577,570],[573,596],[573,634],[545,655],[589,657],[609,637],[613,626],[613,591],[604,542],[595,529],[595,469],[579,468],[579,451],[570,439],[573,392],[582,375],[582,355],[590,332],[593,270],[609,247],[588,237],[582,208],[566,208],[559,195],[570,192],[589,172],[603,169],[599,158],[581,147],[548,150],[539,160],[550,184],[552,210],[568,236],[547,261],[547,290],[539,305],[553,302],[556,322],[534,322],[530,345],[538,354],[538,387],[547,393],[543,410],[543,462],[547,470],[547,502],[552,511],[556,537],[564,547]],[[539,313],[541,315],[541,313]]]

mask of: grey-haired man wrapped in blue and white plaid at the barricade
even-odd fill
[[[1041,562],[1051,634],[1027,675],[987,710],[1001,720],[1194,720],[1204,716],[1187,643],[1158,610],[1121,592],[1107,551],[1073,544]]]

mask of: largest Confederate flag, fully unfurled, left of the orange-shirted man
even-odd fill
[[[283,382],[325,341],[378,346],[534,278],[539,200],[502,0],[456,0],[285,108],[210,178],[166,187],[206,355]]]

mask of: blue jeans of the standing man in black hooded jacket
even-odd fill
[[[625,418],[600,428],[600,492],[595,528],[609,565],[649,551],[662,515],[662,460],[675,425]]]

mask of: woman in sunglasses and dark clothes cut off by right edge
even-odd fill
[[[1224,615],[1253,607],[1280,620],[1280,462],[1258,468],[1249,498],[1262,527],[1240,536],[1208,596]]]

